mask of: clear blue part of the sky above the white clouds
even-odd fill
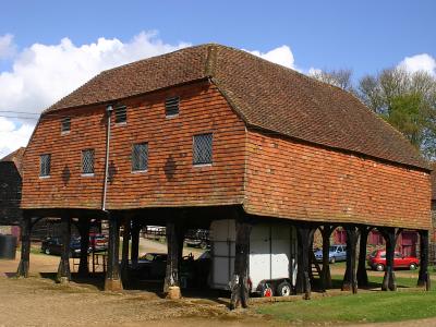
[[[360,76],[408,56],[435,57],[435,13],[436,1],[14,0],[2,3],[0,35],[14,35],[20,48],[63,37],[128,40],[152,29],[170,44],[288,45],[299,66],[351,68]]]

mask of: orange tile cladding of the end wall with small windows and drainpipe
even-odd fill
[[[165,98],[180,96],[180,113],[166,118]],[[128,123],[111,126],[109,209],[235,204],[243,201],[245,126],[207,82],[138,96]],[[100,208],[105,170],[105,107],[62,111],[71,132],[60,133],[59,113],[37,126],[24,158],[23,208]],[[214,164],[193,167],[192,137],[214,133]],[[147,172],[131,171],[132,144],[148,142]],[[95,149],[95,175],[81,175],[81,150]],[[39,178],[39,155],[51,153],[50,178]],[[70,173],[62,173],[63,171]],[[70,174],[66,182],[65,175]],[[63,175],[63,178],[62,178]]]

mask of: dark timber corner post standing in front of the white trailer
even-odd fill
[[[234,271],[231,280],[230,308],[249,306],[249,255],[252,226],[246,214],[240,211],[235,219]]]

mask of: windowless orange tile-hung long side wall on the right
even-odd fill
[[[244,207],[312,221],[431,227],[428,173],[247,132]]]

